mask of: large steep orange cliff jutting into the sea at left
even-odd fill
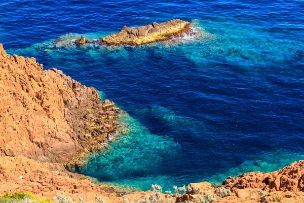
[[[0,44],[0,155],[73,167],[116,133],[113,107],[93,87]]]

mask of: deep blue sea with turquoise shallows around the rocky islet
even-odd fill
[[[79,173],[168,190],[304,159],[303,11],[302,0],[7,0],[0,43],[128,113],[119,122],[129,131]],[[199,34],[137,47],[72,43],[174,18]]]

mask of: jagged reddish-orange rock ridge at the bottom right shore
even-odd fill
[[[222,185],[232,191],[244,188],[260,188],[267,191],[304,192],[304,161],[290,165],[272,173],[252,172],[235,178],[228,178]]]

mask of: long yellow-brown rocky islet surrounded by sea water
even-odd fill
[[[83,36],[75,41],[77,44],[100,42],[106,45],[144,45],[159,41],[171,40],[174,37],[183,37],[183,33],[191,33],[191,23],[173,19],[163,23],[154,22],[150,25],[131,27],[124,26],[118,33],[113,33],[99,41],[88,41]],[[56,40],[59,41],[60,39]]]

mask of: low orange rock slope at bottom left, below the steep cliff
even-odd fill
[[[108,198],[106,202],[122,202],[112,188],[103,188],[84,175],[70,173],[60,163],[40,162],[24,156],[0,156],[0,194],[15,191],[32,192],[50,199],[64,192],[75,201],[80,195],[95,200],[96,195],[108,198],[112,194],[115,200]]]

